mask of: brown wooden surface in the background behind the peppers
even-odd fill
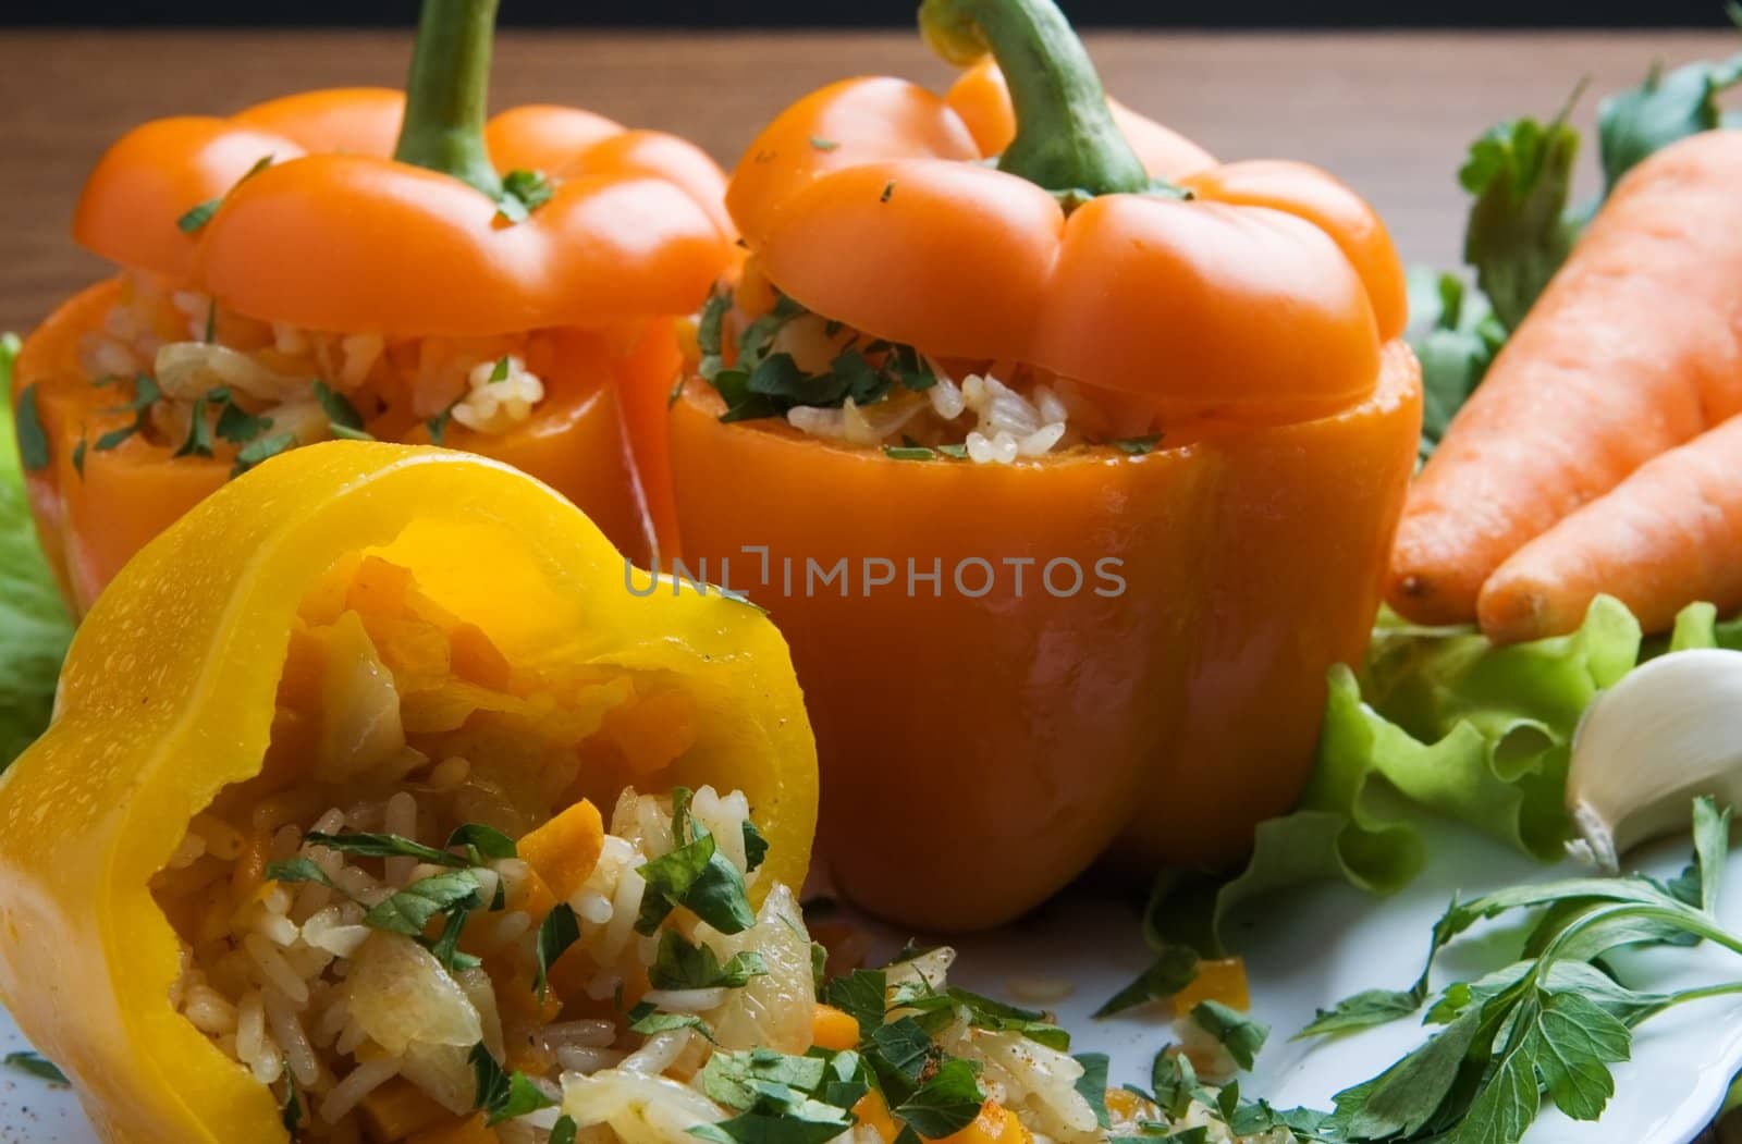
[[[1409,259],[1453,263],[1456,169],[1500,118],[1735,49],[1732,33],[1096,33],[1106,85],[1221,157],[1287,155],[1366,193]],[[103,148],[159,115],[223,113],[310,87],[402,80],[409,38],[350,31],[0,33],[0,329],[26,329],[103,273],[68,221]],[[796,96],[834,78],[948,70],[904,33],[503,35],[496,106],[571,103],[690,136],[730,164]],[[1575,111],[1582,125],[1596,98]],[[1589,136],[1587,136],[1589,138]],[[1587,155],[1589,186],[1596,160]]]

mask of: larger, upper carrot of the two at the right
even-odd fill
[[[1397,611],[1475,620],[1484,582],[1529,540],[1742,413],[1739,188],[1742,131],[1683,139],[1622,179],[1411,488],[1387,583]],[[1608,557],[1632,564],[1636,589],[1665,561],[1643,545]],[[1658,615],[1671,596],[1685,590],[1665,578],[1636,602]],[[1509,630],[1566,630],[1566,608]]]

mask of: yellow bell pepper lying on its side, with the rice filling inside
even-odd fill
[[[122,569],[0,778],[0,1001],[105,1141],[488,1144],[662,1029],[808,1048],[786,646],[624,576],[537,481],[380,442]]]

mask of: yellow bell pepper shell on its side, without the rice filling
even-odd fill
[[[770,843],[760,885],[803,883],[815,747],[786,643],[754,608],[631,592],[599,529],[503,465],[296,449],[122,571],[73,643],[54,724],[0,778],[0,1001],[106,1141],[286,1139],[273,1094],[172,1008],[181,945],[150,881],[195,815],[261,771],[298,609],[359,554],[409,569],[514,665],[676,681],[693,742],[638,782],[744,791]]]

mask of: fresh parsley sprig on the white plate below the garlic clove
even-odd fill
[[[1329,1036],[1395,1020],[1428,1003],[1428,975],[1442,949],[1477,921],[1529,912],[1524,956],[1474,982],[1456,982],[1427,1005],[1437,1026],[1415,1052],[1345,1088],[1329,1113],[1240,1106],[1235,1130],[1289,1127],[1336,1144],[1517,1144],[1543,1095],[1573,1120],[1603,1114],[1615,1094],[1611,1066],[1627,1060],[1634,1029],[1676,1005],[1739,994],[1742,982],[1644,993],[1604,965],[1617,949],[1707,940],[1742,954],[1742,935],[1712,916],[1730,841],[1730,811],[1693,804],[1695,862],[1674,881],[1639,874],[1571,878],[1453,900],[1435,923],[1427,965],[1406,989],[1367,989],[1324,1010],[1301,1036]]]

